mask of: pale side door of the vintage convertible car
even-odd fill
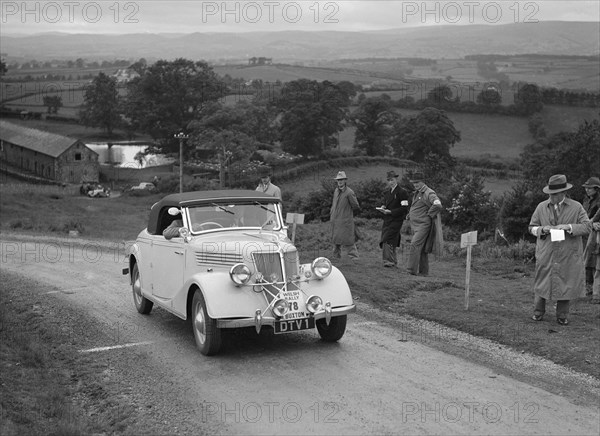
[[[171,307],[183,286],[186,247],[182,237],[157,236],[152,244],[152,295]]]

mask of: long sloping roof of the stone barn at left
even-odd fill
[[[60,156],[79,142],[76,138],[23,127],[6,120],[0,120],[0,139],[52,157]]]

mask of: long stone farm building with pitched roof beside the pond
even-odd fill
[[[97,182],[98,153],[82,141],[0,120],[0,159],[38,177]]]

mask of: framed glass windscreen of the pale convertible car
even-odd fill
[[[188,208],[193,233],[236,227],[279,230],[277,204],[268,201],[214,202]]]

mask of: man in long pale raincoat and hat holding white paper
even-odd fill
[[[568,325],[570,300],[585,296],[581,237],[592,224],[581,203],[567,198],[565,192],[572,187],[563,174],[550,177],[542,189],[549,198],[537,205],[529,222],[529,231],[537,238],[534,321],[542,320],[546,300],[555,299],[556,320]]]

